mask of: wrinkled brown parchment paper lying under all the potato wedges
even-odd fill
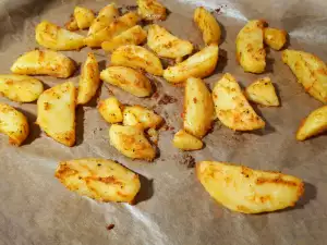
[[[119,5],[135,1],[117,1]],[[10,73],[13,61],[37,46],[34,27],[41,20],[63,25],[75,4],[98,11],[108,1],[0,1],[0,73]],[[217,10],[223,42],[216,74],[205,82],[213,87],[225,72],[232,73],[246,86],[268,75],[278,88],[280,108],[256,108],[267,121],[264,131],[234,133],[219,122],[205,138],[204,150],[183,154],[171,146],[173,133],[181,127],[183,89],[153,78],[158,96],[137,99],[126,93],[102,85],[99,97],[111,90],[123,103],[155,108],[165,117],[168,131],[160,133],[160,157],[154,163],[132,161],[109,146],[108,124],[96,110],[96,99],[77,109],[77,144],[61,146],[40,133],[33,124],[36,105],[8,102],[28,115],[32,134],[20,148],[10,146],[0,136],[0,244],[7,245],[89,245],[89,244],[276,244],[318,245],[327,240],[327,136],[304,143],[294,139],[301,120],[320,107],[304,93],[280,52],[268,53],[267,72],[245,74],[235,62],[234,40],[250,19],[265,19],[270,26],[290,33],[290,47],[319,56],[327,61],[327,1],[325,0],[167,0],[172,12],[162,24],[173,34],[203,46],[201,33],[192,23],[195,5]],[[84,62],[88,48],[64,52]],[[109,61],[95,50],[101,69]],[[47,87],[62,83],[39,77]],[[78,73],[72,78],[75,83]],[[167,103],[167,96],[178,101]],[[166,97],[166,98],[165,98]],[[171,100],[173,101],[173,99]],[[165,105],[167,103],[167,105]],[[137,204],[99,204],[66,191],[55,177],[60,160],[98,157],[117,160],[142,175]],[[192,158],[242,163],[255,169],[276,170],[305,181],[305,194],[292,208],[275,213],[249,216],[230,212],[216,204],[195,177]],[[114,224],[108,230],[109,224]]]

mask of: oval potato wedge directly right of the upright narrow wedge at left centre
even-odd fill
[[[149,79],[131,68],[109,66],[101,72],[100,77],[137,97],[147,97],[153,90]]]

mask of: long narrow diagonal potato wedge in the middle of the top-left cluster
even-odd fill
[[[104,41],[111,40],[114,36],[136,25],[138,21],[140,16],[136,13],[126,13],[123,16],[111,22],[109,26],[88,35],[85,38],[85,44],[92,48],[101,47],[101,44]]]

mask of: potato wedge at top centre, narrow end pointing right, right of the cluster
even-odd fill
[[[178,59],[192,53],[193,45],[182,40],[159,25],[148,27],[147,46],[164,58]]]

